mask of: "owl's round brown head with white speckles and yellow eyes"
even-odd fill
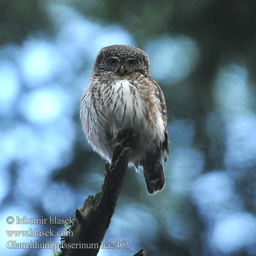
[[[94,73],[105,71],[124,76],[132,72],[150,74],[148,55],[129,45],[111,45],[100,50],[93,67]]]

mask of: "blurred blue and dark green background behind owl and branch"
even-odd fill
[[[99,256],[256,255],[256,1],[1,0],[0,254],[8,216],[73,218],[99,192],[104,160],[88,145],[80,97],[102,47],[148,53],[167,105],[166,186],[146,193],[129,168]]]

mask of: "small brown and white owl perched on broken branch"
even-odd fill
[[[169,154],[163,92],[150,76],[148,55],[128,45],[101,49],[81,97],[80,118],[88,142],[111,162],[119,134],[133,134],[129,165],[143,170],[147,192],[163,189]]]

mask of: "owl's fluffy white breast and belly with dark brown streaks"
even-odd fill
[[[164,140],[160,101],[144,76],[105,83],[91,79],[81,99],[80,115],[87,140],[108,161],[119,130],[129,129],[135,135],[130,157],[134,166]]]

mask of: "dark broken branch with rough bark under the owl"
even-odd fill
[[[76,209],[75,223],[69,228],[73,236],[62,238],[61,256],[96,256],[113,216],[116,202],[128,167],[131,148],[126,140],[116,143],[113,150],[112,164],[105,163],[105,178],[102,189],[93,197],[88,195],[81,209]],[[81,248],[72,248],[79,244]],[[85,248],[90,244],[91,248]],[[83,246],[83,247],[82,247]],[[75,247],[75,246],[73,246]],[[140,250],[136,256],[145,256]]]

